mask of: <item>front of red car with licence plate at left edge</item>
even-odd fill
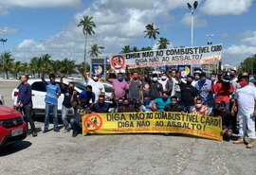
[[[22,114],[0,105],[0,148],[27,137],[26,122]]]

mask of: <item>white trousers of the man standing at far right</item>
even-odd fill
[[[247,136],[250,139],[255,139],[255,116],[252,113],[237,114],[238,122],[239,122],[239,134],[238,136],[245,136],[247,132]]]

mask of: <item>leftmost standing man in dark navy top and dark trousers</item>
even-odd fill
[[[28,76],[23,74],[21,75],[21,83],[19,84],[19,95],[17,98],[16,107],[20,109],[25,117],[26,123],[30,124],[32,130],[32,136],[37,136],[37,131],[35,124],[32,118],[32,97],[31,97],[31,86],[27,83]],[[28,127],[28,126],[27,126]]]

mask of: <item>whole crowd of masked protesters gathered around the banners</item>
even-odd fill
[[[181,112],[221,116],[224,139],[229,140],[232,133],[238,133],[239,138],[233,143],[242,144],[247,135],[249,138],[247,148],[254,147],[256,88],[249,81],[247,73],[237,75],[235,70],[229,70],[207,76],[201,69],[194,69],[192,76],[182,79],[180,72],[176,69],[152,76],[148,71],[141,74],[140,68],[130,73],[127,66],[125,74],[110,69],[106,76],[106,80],[113,85],[112,101],[109,102],[105,101],[104,86],[99,80],[99,75],[95,74],[90,78],[83,68],[80,68],[80,72],[87,85],[78,96],[72,82],[67,87],[63,85],[64,75],[60,77],[61,86],[59,86],[55,83],[55,75],[50,74],[50,81],[47,82],[45,71],[43,71],[42,80],[46,84],[46,120],[43,132],[48,131],[50,110],[53,111],[54,116],[54,131],[59,131],[57,100],[62,90],[64,92],[62,109],[64,131],[70,131],[70,125],[73,136],[82,130],[82,114]],[[22,79],[20,91],[25,91],[22,86],[26,84],[25,82],[26,80]],[[27,91],[31,90],[28,88]],[[21,96],[22,93],[19,95]],[[30,105],[29,102],[27,104]],[[17,106],[23,107],[26,104],[19,102]],[[24,109],[27,110],[27,108]],[[68,113],[75,117],[68,120]],[[27,121],[34,130],[33,121],[29,114],[27,116]],[[34,135],[36,135],[35,131]]]

